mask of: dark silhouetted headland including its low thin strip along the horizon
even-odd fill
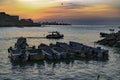
[[[0,27],[40,27],[41,25],[70,25],[58,22],[34,22],[32,19],[19,19],[17,15],[9,15],[0,12]]]

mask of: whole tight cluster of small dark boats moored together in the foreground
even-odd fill
[[[11,61],[32,60],[64,60],[64,59],[92,59],[108,60],[108,50],[101,47],[90,47],[82,43],[70,41],[68,43],[56,42],[46,45],[41,43],[38,47],[29,46],[27,39],[20,37],[14,47],[8,49]]]

